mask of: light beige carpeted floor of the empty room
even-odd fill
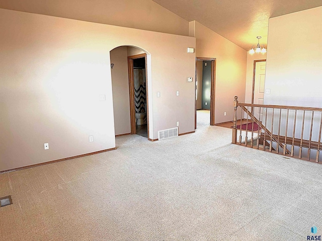
[[[0,240],[306,240],[322,230],[322,165],[230,144],[231,130],[0,174]],[[313,234],[312,234],[313,235]]]

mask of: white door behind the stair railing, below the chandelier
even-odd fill
[[[264,104],[266,61],[256,62],[254,83],[254,104]],[[257,119],[263,119],[263,108],[256,107],[254,115]]]

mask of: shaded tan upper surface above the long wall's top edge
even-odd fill
[[[151,0],[2,0],[0,8],[188,36],[188,21]]]

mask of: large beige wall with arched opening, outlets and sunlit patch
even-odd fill
[[[115,147],[110,51],[118,46],[148,52],[150,138],[176,121],[180,133],[194,131],[194,38],[4,9],[0,16],[0,170]]]

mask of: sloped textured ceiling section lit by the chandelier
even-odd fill
[[[268,20],[322,6],[322,0],[152,0],[187,21],[196,20],[245,50],[267,45]],[[268,46],[269,47],[269,46]]]

